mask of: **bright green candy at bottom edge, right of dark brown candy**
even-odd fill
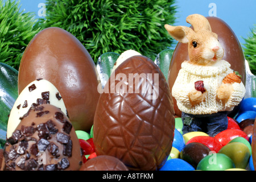
[[[232,159],[230,159],[225,154],[220,153],[212,153],[202,160],[200,160],[197,165],[196,170],[201,171],[224,171],[226,169],[234,168],[234,163]]]

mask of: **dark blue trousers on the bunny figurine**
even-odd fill
[[[228,128],[228,112],[220,111],[213,114],[187,114],[181,113],[183,121],[183,134],[192,131],[202,131],[214,137]]]

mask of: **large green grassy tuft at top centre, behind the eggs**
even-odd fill
[[[129,49],[155,60],[174,39],[164,24],[175,23],[175,1],[170,0],[46,0],[46,19],[40,25],[67,30],[88,50],[95,63],[106,52]]]

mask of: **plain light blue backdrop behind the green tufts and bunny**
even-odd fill
[[[38,7],[39,3],[45,3],[45,0],[20,0],[20,9],[25,12],[35,12],[36,18],[44,18],[39,16],[42,13],[42,7]],[[212,14],[210,3],[216,5],[216,11]],[[256,24],[256,1],[255,0],[176,0],[177,6],[175,26],[190,26],[185,19],[190,14],[201,14],[204,16],[217,16],[224,20],[232,28],[241,46],[250,35],[251,28]],[[47,10],[46,10],[47,14]]]

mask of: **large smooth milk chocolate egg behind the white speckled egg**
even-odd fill
[[[75,130],[90,130],[100,96],[97,70],[75,36],[57,27],[35,35],[20,61],[19,93],[38,78],[50,81],[60,91]]]

